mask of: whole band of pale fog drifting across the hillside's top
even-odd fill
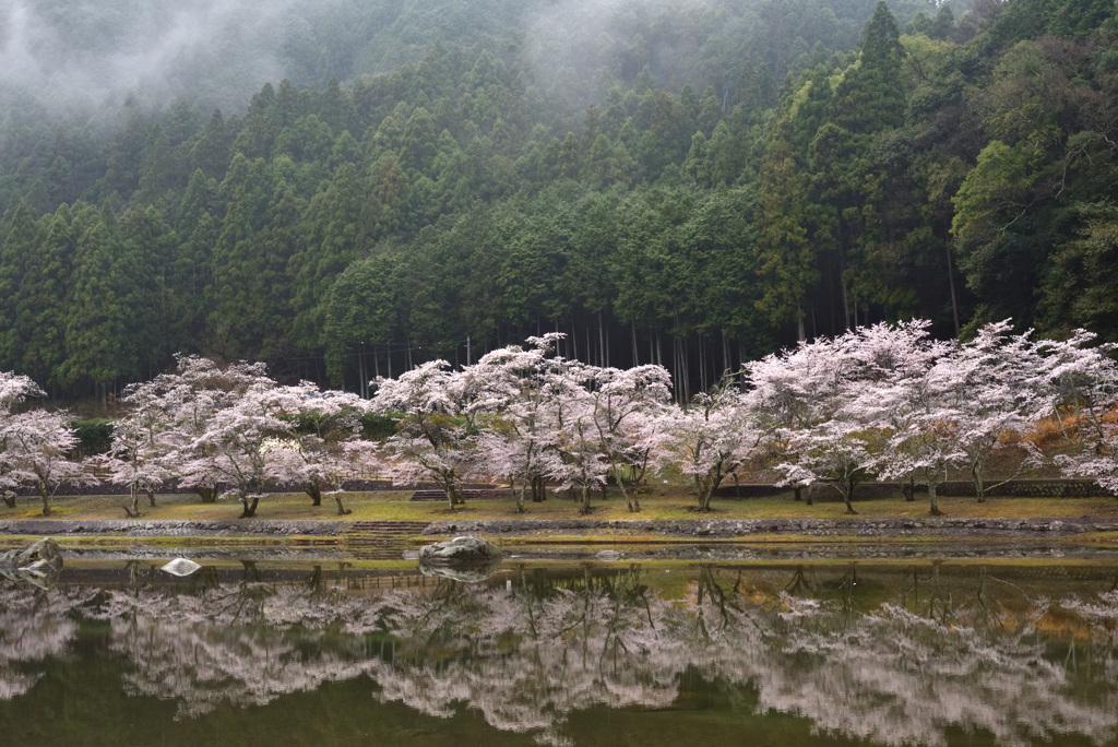
[[[231,112],[267,82],[349,84],[436,42],[481,41],[525,62],[549,101],[578,111],[645,66],[676,89],[724,91],[747,62],[781,76],[816,42],[853,46],[856,16],[872,4],[856,0],[855,18],[840,21],[818,0],[4,0],[0,94],[56,110],[132,96]]]

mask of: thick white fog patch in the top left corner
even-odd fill
[[[294,0],[7,0],[0,86],[46,105],[231,103],[282,76],[275,47]]]

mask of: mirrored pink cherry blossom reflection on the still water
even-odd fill
[[[124,691],[171,699],[180,718],[368,678],[381,702],[438,718],[465,706],[552,745],[572,744],[577,712],[678,707],[697,687],[870,744],[1118,735],[1118,590],[1097,566],[513,566],[489,584],[359,580],[345,564],[291,583],[245,564],[231,581],[208,568],[167,584],[134,565],[111,588],[3,588],[0,699],[23,697],[45,662],[74,655],[79,626],[98,625],[127,662]]]

